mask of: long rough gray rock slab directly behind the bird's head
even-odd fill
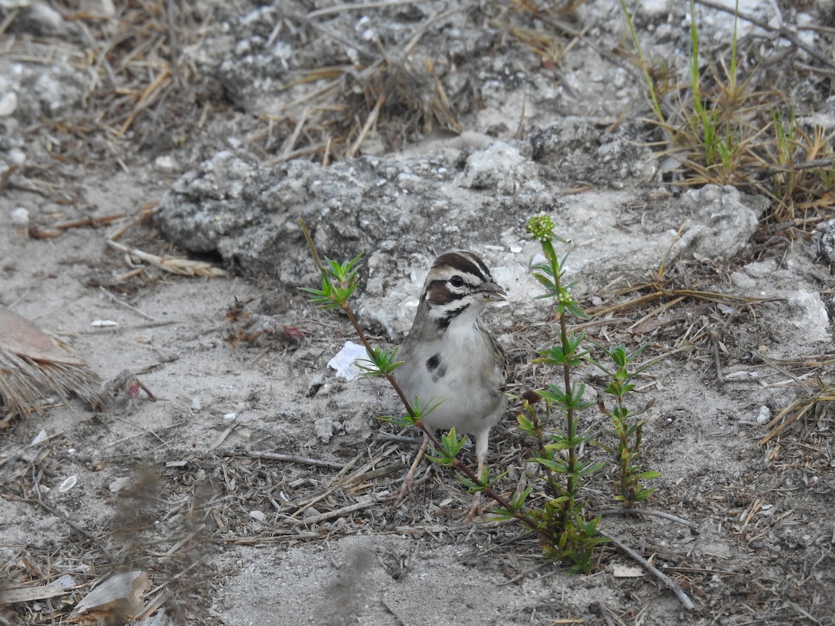
[[[541,203],[535,189],[513,196],[465,189],[450,159],[389,164],[368,157],[329,168],[307,161],[269,167],[251,154],[223,151],[172,186],[158,223],[187,250],[219,253],[246,275],[294,286],[315,275],[299,217],[320,254],[339,260],[396,248],[398,259],[419,255],[423,261],[427,250],[481,249],[510,228],[521,237],[524,217],[536,212],[529,207]],[[391,275],[392,257],[377,259],[381,263]],[[376,290],[387,289],[387,275],[380,275]]]

